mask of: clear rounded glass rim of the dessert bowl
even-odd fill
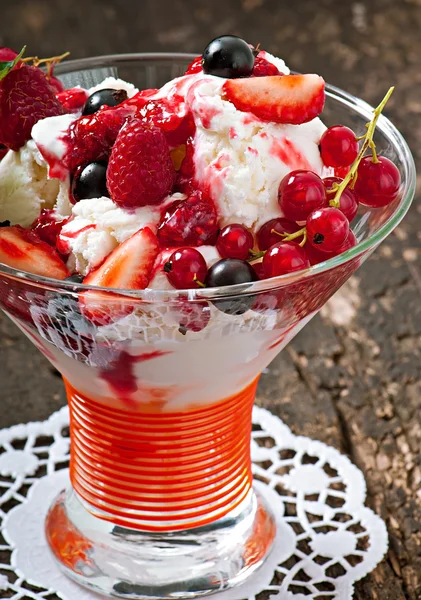
[[[55,67],[55,74],[74,73],[78,70],[87,68],[104,67],[111,65],[118,65],[119,63],[131,62],[136,60],[193,60],[197,54],[181,53],[181,52],[145,52],[145,53],[128,53],[128,54],[108,54],[103,56],[94,56],[89,58],[75,59],[60,63]],[[349,109],[358,111],[361,116],[364,116],[367,121],[370,121],[374,108],[357,98],[356,96],[345,92],[344,90],[327,84],[326,83],[326,96],[335,98],[341,101],[341,103],[347,106]],[[395,211],[389,216],[381,227],[375,231],[367,239],[357,243],[353,248],[335,256],[328,260],[322,261],[316,265],[312,265],[307,269],[296,271],[294,273],[288,273],[286,275],[279,275],[270,279],[262,279],[252,283],[237,284],[226,287],[212,287],[212,288],[199,288],[190,290],[176,290],[176,289],[153,289],[145,288],[142,290],[124,290],[119,288],[105,288],[92,285],[84,285],[83,283],[74,283],[65,280],[53,279],[50,277],[41,277],[34,275],[26,271],[20,271],[13,267],[9,267],[4,263],[0,263],[0,274],[25,281],[33,285],[43,285],[50,289],[60,289],[63,291],[71,292],[86,292],[88,290],[95,290],[100,292],[106,292],[108,294],[129,296],[144,301],[159,301],[159,300],[177,300],[186,299],[186,296],[190,300],[210,300],[214,298],[223,298],[229,296],[238,295],[251,295],[260,292],[267,292],[278,287],[284,287],[291,283],[319,275],[321,273],[330,271],[336,267],[342,266],[349,261],[358,258],[365,252],[371,250],[371,248],[379,245],[395,227],[402,221],[404,216],[409,210],[411,202],[415,194],[416,185],[416,171],[415,163],[412,157],[411,151],[406,143],[404,137],[399,132],[397,127],[385,117],[383,114],[380,115],[377,122],[377,129],[381,130],[382,133],[388,138],[390,143],[393,145],[395,150],[398,152],[400,159],[403,164],[405,171],[405,187],[402,190],[402,195],[396,206]],[[372,210],[376,210],[375,208]]]

